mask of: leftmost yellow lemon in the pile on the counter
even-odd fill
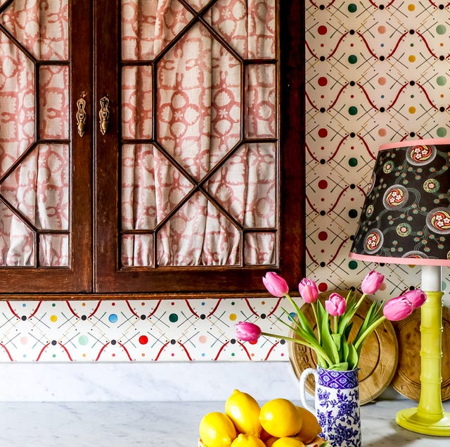
[[[236,438],[236,428],[224,413],[212,412],[200,421],[200,439],[207,447],[230,447]]]

